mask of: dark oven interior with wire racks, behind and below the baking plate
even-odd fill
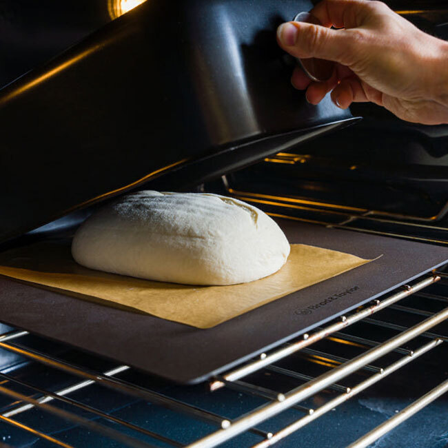
[[[83,27],[49,39],[43,59],[109,20],[99,2],[84,3],[71,19]],[[445,2],[388,3],[448,38]],[[39,62],[32,54],[28,63]],[[31,67],[14,64],[3,81]],[[448,126],[403,123],[372,105],[352,112],[363,121],[195,190],[428,250],[448,245]],[[34,234],[73,232],[88,213]],[[0,446],[446,447],[447,318],[448,273],[440,269],[194,386],[0,325]]]

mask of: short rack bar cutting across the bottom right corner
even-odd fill
[[[372,431],[365,434],[365,436],[358,438],[358,440],[349,445],[348,448],[368,447],[375,440],[378,440],[378,438],[387,434],[389,431],[403,423],[409,417],[416,414],[418,411],[429,405],[429,403],[432,403],[434,400],[436,400],[436,398],[439,398],[446,392],[448,392],[448,380],[445,380],[437,387],[434,387],[434,389],[429,391],[427,394],[414,401],[414,403],[411,403],[411,405],[405,407],[405,409],[398,412],[398,414],[389,418],[389,420],[386,420],[384,423],[382,423]]]

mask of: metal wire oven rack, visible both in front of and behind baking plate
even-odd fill
[[[347,210],[328,210],[325,207],[320,207],[318,204],[313,204],[312,207],[309,207],[303,204],[283,203],[277,197],[260,198],[258,196],[250,196],[250,194],[247,194],[247,196],[239,196],[241,192],[238,194],[230,190],[228,192],[233,193],[234,196],[242,198],[245,201],[263,205],[263,209],[274,216],[318,223],[327,225],[328,227],[371,232],[398,238],[416,239],[427,243],[448,243],[444,238],[447,230],[446,227],[436,227],[427,223],[414,221],[378,218],[378,216],[371,216],[370,212],[355,214]],[[366,227],[366,223],[373,223],[378,227],[368,225]],[[396,232],[391,232],[390,230],[383,231],[381,226],[384,224],[389,227],[396,226]],[[390,296],[376,300],[371,305],[362,307],[347,316],[343,316],[323,328],[314,329],[314,332],[310,334],[303,334],[292,341],[292,343],[286,343],[279,349],[261,354],[259,358],[252,360],[252,362],[214,378],[209,385],[209,391],[201,391],[203,396],[212,394],[215,397],[216,394],[220,394],[222,391],[225,391],[225,394],[236,391],[238,394],[243,394],[245,398],[256,397],[265,400],[265,403],[261,407],[254,407],[254,409],[251,409],[247,413],[243,413],[241,416],[232,416],[232,418],[224,413],[217,413],[216,411],[206,409],[206,407],[187,403],[185,400],[179,400],[176,396],[161,394],[154,387],[148,387],[147,385],[142,387],[139,384],[133,383],[132,380],[123,379],[123,375],[133,371],[128,366],[111,365],[110,368],[104,371],[98,371],[83,365],[67,363],[58,356],[52,356],[49,352],[37,351],[21,343],[23,338],[28,336],[28,332],[8,332],[0,336],[0,349],[17,354],[23,359],[28,359],[30,363],[40,363],[48,369],[68,372],[74,377],[81,378],[81,380],[72,379],[70,384],[64,385],[59,389],[45,388],[39,387],[39,385],[30,381],[26,382],[15,378],[13,371],[10,373],[3,371],[0,378],[0,394],[9,396],[14,401],[6,406],[0,407],[0,421],[3,420],[7,425],[21,427],[22,431],[28,431],[35,436],[43,438],[50,445],[64,447],[76,445],[70,445],[63,440],[58,440],[51,434],[45,434],[39,427],[24,425],[17,418],[26,415],[32,409],[39,409],[43,413],[50,413],[54,416],[65,418],[80,427],[96,431],[96,433],[106,438],[117,440],[123,446],[148,447],[154,446],[154,443],[156,443],[159,444],[156,446],[163,447],[212,447],[226,440],[238,440],[238,434],[250,434],[252,437],[258,438],[258,440],[245,445],[236,442],[237,445],[230,446],[271,446],[283,440],[283,438],[294,434],[295,431],[305,427],[317,418],[325,416],[330,410],[336,409],[338,405],[345,403],[350,398],[356,396],[356,394],[380,382],[380,380],[383,380],[394,371],[401,369],[409,363],[414,363],[415,365],[416,360],[423,354],[440,349],[439,346],[447,341],[448,334],[438,334],[430,330],[442,320],[448,318],[448,308],[433,313],[416,309],[412,306],[397,304],[409,296],[420,296],[420,298],[426,301],[438,303],[443,306],[448,303],[448,294],[422,292],[422,289],[427,287],[431,288],[431,285],[434,283],[446,284],[448,289],[447,274],[438,272],[431,276],[420,278],[413,285],[407,285],[404,288],[396,290]],[[421,318],[425,318],[425,320],[422,320],[422,322],[412,327],[411,325],[398,325],[396,322],[402,320],[401,318],[390,321],[371,317],[385,309],[394,310],[394,312],[400,313],[401,316],[420,316]],[[367,327],[370,325],[378,329],[384,329],[385,331],[396,332],[396,335],[380,343],[371,338],[347,333],[345,329],[348,329],[352,325],[363,325]],[[418,334],[420,334],[420,339],[424,343],[421,343],[418,347],[413,347],[413,349],[403,347],[406,341],[414,340]],[[323,340],[334,340],[338,344],[343,345],[355,345],[362,347],[366,352],[355,358],[343,358],[329,351],[323,352],[322,350],[312,348],[319,341]],[[17,344],[17,341],[20,343]],[[446,347],[446,345],[444,346]],[[370,365],[372,360],[383,356],[385,353],[394,353],[396,356],[403,356],[400,356],[400,358],[385,367]],[[327,365],[329,369],[323,374],[312,376],[303,373],[303,371],[299,371],[299,369],[292,369],[290,367],[285,369],[278,365],[282,360],[294,358],[296,355],[305,356],[305,358],[301,358],[303,362],[320,363]],[[322,360],[325,360],[325,362],[322,362]],[[354,385],[347,386],[340,384],[340,380],[343,380],[343,383],[347,376],[350,376],[353,372],[357,374],[360,371],[363,371],[363,373],[371,372],[372,375]],[[252,378],[254,375],[262,372],[265,372],[265,374],[276,374],[283,378],[291,378],[299,385],[294,385],[288,391],[278,391],[275,387],[269,388],[258,385]],[[147,382],[151,383],[152,380],[155,381],[154,378],[147,376]],[[28,393],[15,391],[14,387],[18,385],[25,387],[25,391]],[[179,415],[179,418],[181,416],[188,416],[194,418],[196,422],[206,422],[207,425],[212,425],[215,430],[209,427],[206,431],[207,434],[201,437],[195,437],[197,440],[179,440],[179,438],[162,434],[161,431],[147,429],[144,425],[137,425],[126,419],[117,418],[110,412],[103,411],[99,406],[86,405],[82,401],[73,398],[79,391],[88,390],[89,388],[92,389],[95,385],[101,385],[110,394],[126,394],[132,398],[153,403],[163,409],[169,409],[176,413],[176,415]],[[442,381],[442,383],[436,385],[436,387],[421,398],[418,398],[414,403],[403,409],[403,411],[398,412],[396,416],[389,418],[384,424],[379,425],[374,430],[365,434],[365,436],[354,442],[352,446],[367,446],[368,443],[386,434],[387,431],[390,431],[396,425],[407,420],[416,411],[422,409],[422,407],[445,393],[447,387],[447,381]],[[333,393],[339,392],[340,394],[331,400],[327,400],[320,407],[311,407],[306,404],[307,398],[318,396],[318,394],[326,391],[332,391]],[[221,398],[222,396],[216,396],[214,400],[218,401]],[[48,403],[52,404],[49,405]],[[54,403],[67,405],[68,411],[65,409],[65,413],[64,411],[61,412],[61,409],[57,405],[54,405]],[[269,423],[269,417],[285,414],[289,409],[294,409],[295,412],[300,413],[300,417],[293,419],[288,425],[276,428],[275,430],[270,429],[269,426],[264,427],[266,423]],[[79,411],[88,412],[90,419],[85,417],[80,418]],[[96,421],[92,423],[92,416],[94,416],[93,418],[95,420],[99,419],[103,422],[113,422],[115,426],[111,429],[104,424],[100,425]],[[217,430],[216,427],[218,428]]]

